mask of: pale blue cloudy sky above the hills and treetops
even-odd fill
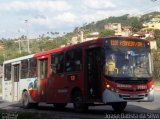
[[[71,32],[110,16],[160,11],[160,0],[0,0],[0,38]]]

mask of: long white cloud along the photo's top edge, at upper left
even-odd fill
[[[21,11],[21,10],[37,10],[37,11],[65,11],[71,9],[71,6],[65,1],[14,1],[10,3],[1,3],[0,11]]]

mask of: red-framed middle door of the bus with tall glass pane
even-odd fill
[[[38,58],[38,95],[41,102],[46,101],[49,56]]]

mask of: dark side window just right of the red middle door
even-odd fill
[[[64,53],[53,54],[51,56],[51,73],[59,74],[64,72]]]

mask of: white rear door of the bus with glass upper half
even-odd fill
[[[12,94],[13,94],[13,101],[19,101],[19,78],[20,78],[20,64],[14,63],[12,64],[12,76],[13,76],[13,87],[12,87]]]

